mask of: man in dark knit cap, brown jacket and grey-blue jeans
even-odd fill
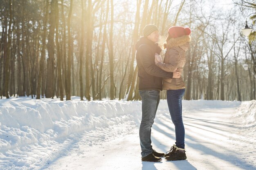
[[[155,65],[155,53],[161,48],[156,44],[159,30],[155,25],[146,25],[143,37],[136,44],[136,61],[139,76],[139,95],[142,99],[142,119],[139,128],[141,161],[158,162],[164,153],[153,150],[151,145],[151,127],[159,104],[159,93],[162,91],[162,78],[180,78],[179,72],[166,72]]]

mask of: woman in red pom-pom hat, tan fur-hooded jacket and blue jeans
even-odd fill
[[[182,26],[172,26],[168,29],[168,37],[164,48],[167,49],[164,62],[159,55],[155,55],[155,64],[164,71],[183,72],[186,62],[185,53],[189,49],[191,30]],[[185,130],[182,121],[182,97],[185,93],[185,84],[182,79],[163,79],[163,89],[167,90],[167,103],[171,119],[175,126],[175,145],[164,155],[168,161],[184,160],[185,153]]]

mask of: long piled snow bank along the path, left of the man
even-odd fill
[[[138,119],[140,102],[0,100],[0,151]]]

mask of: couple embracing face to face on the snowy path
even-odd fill
[[[141,161],[158,162],[160,157],[168,161],[184,160],[185,130],[182,121],[182,97],[185,84],[181,77],[186,62],[185,53],[189,49],[191,30],[182,26],[168,29],[164,60],[160,57],[162,49],[158,44],[159,30],[155,25],[146,25],[143,37],[136,44],[136,60],[139,76],[139,95],[142,99],[142,119],[139,128]],[[171,120],[175,125],[176,142],[171,150],[156,152],[151,145],[151,127],[159,104],[159,93],[167,90],[167,104]]]

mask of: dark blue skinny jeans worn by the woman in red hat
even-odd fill
[[[185,129],[182,120],[182,97],[184,93],[185,89],[167,91],[168,108],[175,126],[175,144],[182,149],[185,148]]]

